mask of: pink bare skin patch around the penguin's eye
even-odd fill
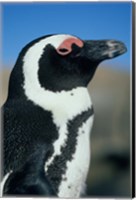
[[[83,42],[78,38],[68,38],[64,40],[60,46],[57,48],[58,54],[65,56],[72,51],[72,45],[75,44],[79,47],[83,47]]]

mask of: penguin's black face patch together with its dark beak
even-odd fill
[[[66,49],[60,50],[66,52]],[[42,87],[54,92],[86,87],[100,62],[125,51],[125,45],[118,41],[90,40],[84,41],[82,48],[73,44],[71,53],[61,56],[49,44],[39,60],[39,82]]]

